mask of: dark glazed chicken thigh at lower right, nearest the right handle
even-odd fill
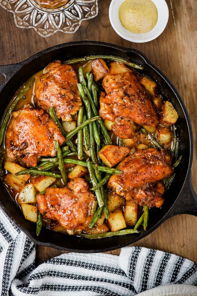
[[[126,157],[117,167],[122,170],[120,175],[113,175],[108,181],[108,188],[117,194],[125,196],[126,200],[149,207],[160,207],[163,203],[164,186],[155,183],[168,178],[174,172],[171,168],[171,158],[166,150],[156,148],[137,150]]]

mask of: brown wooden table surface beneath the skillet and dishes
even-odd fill
[[[194,135],[197,139],[196,125],[196,51],[195,25],[196,0],[167,0],[169,21],[165,31],[148,43],[131,43],[119,37],[110,25],[108,9],[110,0],[99,0],[99,14],[92,20],[82,22],[74,34],[56,33],[42,38],[33,29],[20,29],[14,24],[12,13],[0,7],[0,65],[21,62],[31,55],[50,46],[70,41],[94,40],[114,43],[140,50],[175,85],[188,109]],[[79,49],[80,52],[80,49]],[[197,145],[196,145],[197,147]],[[196,150],[192,165],[192,183],[197,192]],[[197,218],[191,215],[178,215],[168,219],[152,234],[134,245],[155,248],[184,256],[197,263]],[[112,251],[118,255],[120,250]],[[37,247],[38,264],[48,258],[61,254],[49,247]]]

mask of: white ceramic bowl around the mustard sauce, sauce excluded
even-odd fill
[[[112,0],[109,8],[110,23],[119,36],[131,42],[142,43],[157,38],[163,32],[169,17],[169,11],[165,0],[152,0],[157,7],[158,20],[150,32],[143,34],[131,33],[121,24],[119,19],[119,8],[124,1],[125,0]]]

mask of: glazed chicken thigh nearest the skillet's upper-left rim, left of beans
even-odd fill
[[[36,104],[48,112],[53,106],[58,118],[71,121],[82,105],[73,67],[55,61],[45,69],[46,74],[35,82]]]

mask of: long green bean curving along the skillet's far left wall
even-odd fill
[[[20,91],[18,96],[13,100],[13,102],[9,105],[6,114],[2,120],[1,129],[0,129],[0,146],[4,140],[4,135],[6,128],[8,126],[9,120],[11,118],[11,113],[14,111],[17,103],[23,98],[24,94],[31,88],[33,82],[35,81],[35,78],[32,78],[27,85],[24,85],[24,88]]]

